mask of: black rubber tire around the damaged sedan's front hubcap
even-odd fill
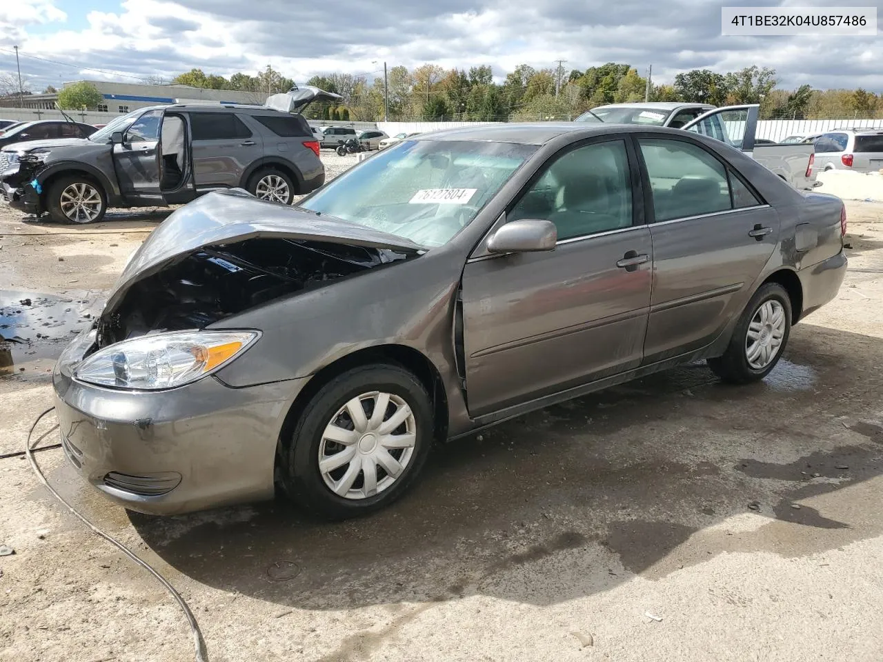
[[[374,496],[348,499],[332,492],[322,477],[319,454],[323,433],[347,402],[374,391],[400,397],[408,405],[416,424],[413,449],[410,461],[391,485]],[[280,464],[285,493],[301,508],[328,520],[348,519],[385,508],[413,485],[426,464],[433,437],[432,403],[426,388],[411,372],[397,365],[384,364],[353,368],[321,387],[294,425],[291,438],[283,440]],[[355,451],[360,452],[358,448]],[[396,459],[402,456],[398,455]],[[342,469],[348,470],[349,464]],[[386,475],[385,470],[383,474]],[[380,480],[381,470],[378,470],[377,477]],[[354,485],[358,487],[361,481],[364,486],[364,480],[364,472],[358,473]]]

